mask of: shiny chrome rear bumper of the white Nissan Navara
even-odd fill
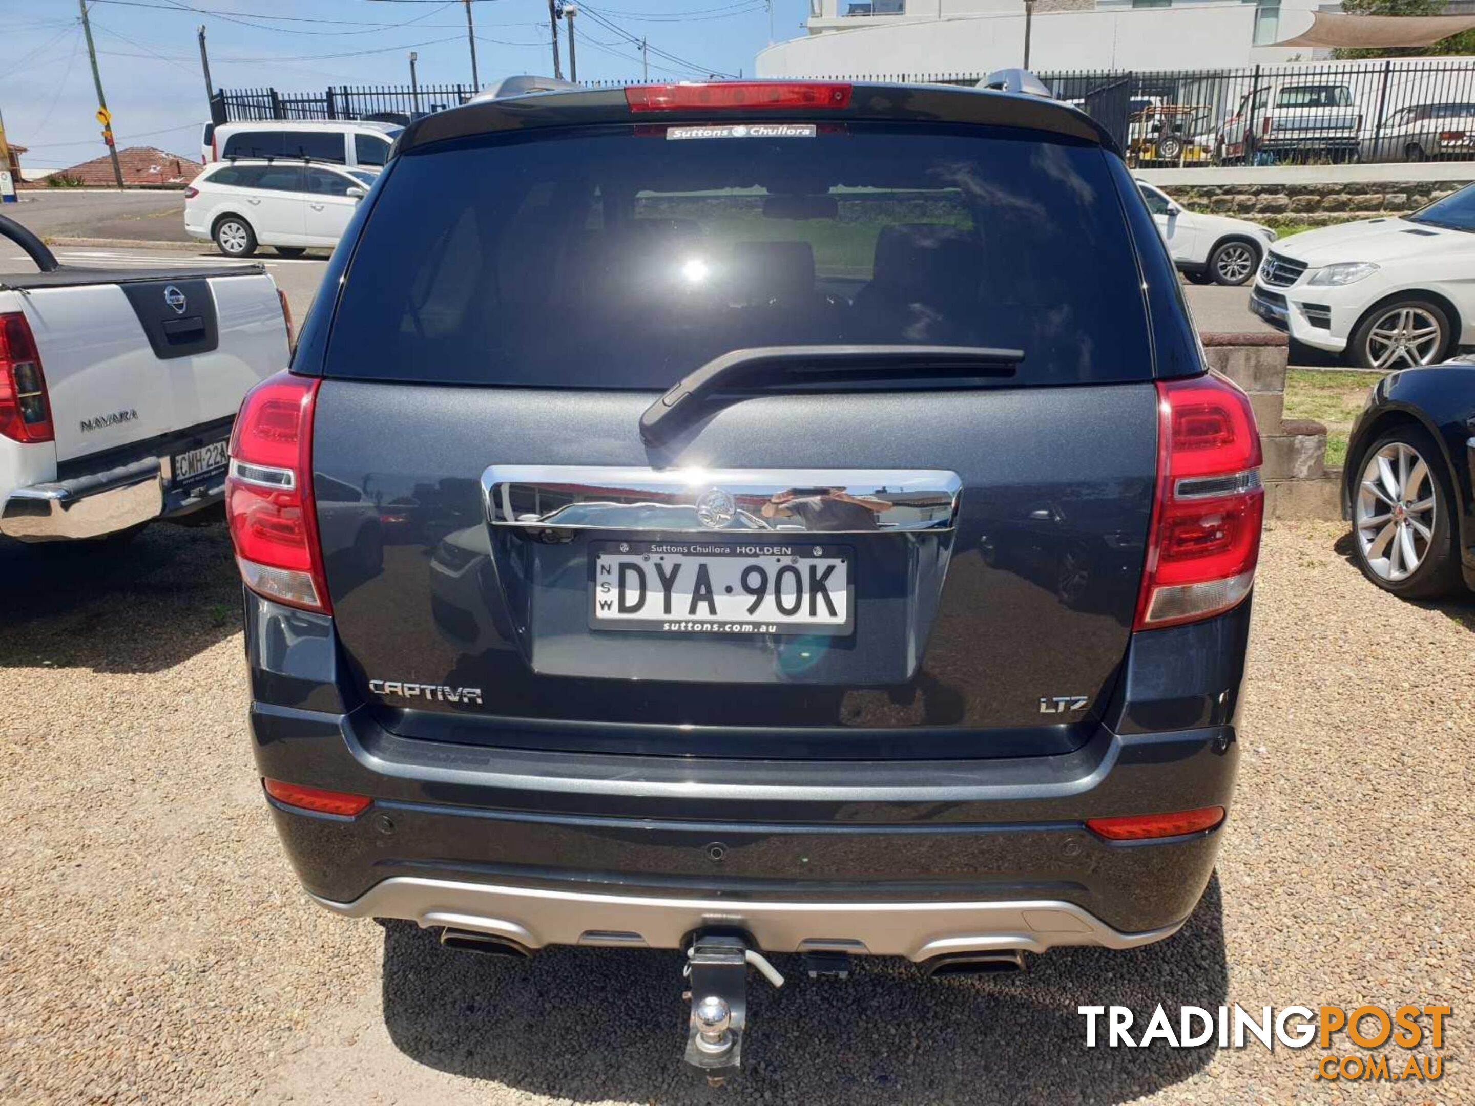
[[[22,541],[96,538],[164,512],[158,457],[66,481],[16,488],[0,513],[0,534]]]

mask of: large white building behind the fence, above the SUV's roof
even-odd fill
[[[1276,47],[1326,0],[1037,0],[1030,68],[1226,69],[1311,60]],[[979,74],[1024,58],[1024,0],[810,0],[808,35],[758,55],[758,77]],[[1320,53],[1320,52],[1319,52]]]

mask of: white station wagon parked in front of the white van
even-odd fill
[[[332,249],[375,177],[301,161],[206,165],[184,189],[184,232],[212,240],[226,257],[251,257],[258,245],[283,257]]]

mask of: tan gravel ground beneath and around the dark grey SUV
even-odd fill
[[[0,1099],[1475,1100],[1475,606],[1376,591],[1341,537],[1266,535],[1239,804],[1181,933],[1018,978],[879,963],[755,988],[751,1068],[723,1091],[680,1071],[671,954],[503,963],[310,907],[252,773],[220,526],[0,549]],[[1078,1004],[1159,1001],[1447,1003],[1446,1078],[1348,1090],[1311,1082],[1314,1048],[1084,1048]]]

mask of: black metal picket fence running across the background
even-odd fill
[[[974,86],[984,72],[826,74]],[[1134,165],[1317,164],[1475,159],[1475,58],[1376,59],[1243,69],[1041,72],[1058,99],[1080,106]],[[590,81],[590,87],[636,81]],[[329,87],[323,93],[243,88],[217,93],[217,122],[367,119],[404,122],[465,103],[463,84]]]

